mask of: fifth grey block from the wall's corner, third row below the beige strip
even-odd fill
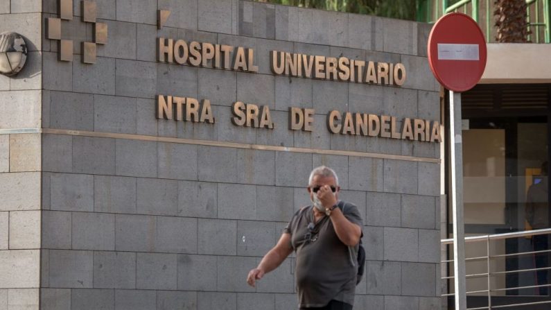
[[[199,219],[198,253],[236,255],[237,221]]]

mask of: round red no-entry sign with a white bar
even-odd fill
[[[441,85],[454,92],[473,88],[486,67],[486,41],[480,27],[462,13],[444,15],[428,37],[428,62]]]

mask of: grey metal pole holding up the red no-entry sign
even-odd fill
[[[461,93],[450,91],[451,205],[453,212],[453,278],[455,310],[466,309],[465,229],[463,218],[463,147]]]

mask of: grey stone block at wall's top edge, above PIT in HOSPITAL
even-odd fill
[[[198,1],[198,29],[213,33],[236,33],[232,25],[233,0]],[[236,25],[237,26],[237,25]]]

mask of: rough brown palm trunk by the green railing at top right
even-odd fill
[[[525,0],[494,0],[493,15],[496,16],[497,42],[526,43],[530,34]]]

